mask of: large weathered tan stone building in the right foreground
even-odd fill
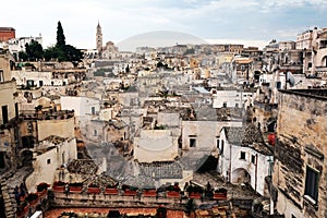
[[[287,218],[327,216],[327,90],[280,90],[272,202]]]

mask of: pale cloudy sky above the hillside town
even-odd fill
[[[96,47],[98,22],[104,44],[169,31],[263,47],[327,27],[326,0],[16,0],[1,9],[1,26],[14,27],[16,37],[41,34],[44,48],[56,44],[58,21],[66,44],[88,49]]]

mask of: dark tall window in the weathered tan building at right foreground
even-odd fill
[[[306,167],[304,197],[308,198],[313,204],[318,199],[319,173],[310,167]]]

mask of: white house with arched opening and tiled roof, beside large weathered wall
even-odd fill
[[[243,128],[222,128],[219,140],[218,171],[233,184],[249,184],[261,195],[268,193],[266,177],[271,175],[272,148],[261,131],[249,124]]]

